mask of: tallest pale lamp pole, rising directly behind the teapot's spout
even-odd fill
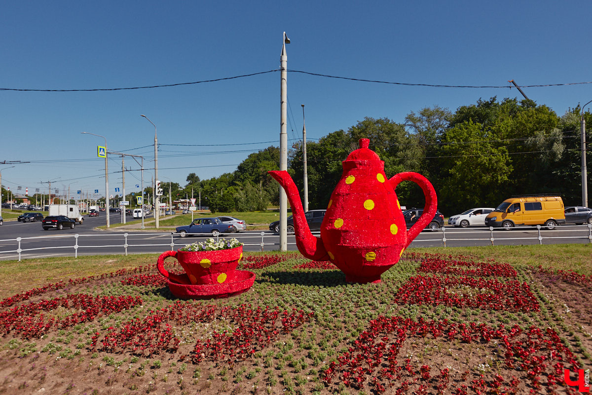
[[[288,54],[286,44],[290,40],[284,31],[282,54],[279,57],[281,69],[281,102],[280,102],[280,131],[279,131],[279,170],[288,170]],[[284,188],[279,188],[279,251],[288,250],[288,197]]]

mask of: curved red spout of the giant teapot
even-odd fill
[[[323,240],[319,237],[313,236],[310,232],[306,217],[304,216],[304,208],[300,200],[300,192],[292,177],[287,171],[269,171],[268,172],[275,181],[279,182],[282,188],[286,191],[288,201],[292,207],[292,219],[294,219],[294,235],[296,236],[296,245],[298,251],[306,258],[313,261],[329,261],[329,255],[323,245]]]

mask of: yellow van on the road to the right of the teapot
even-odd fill
[[[563,200],[559,196],[530,195],[506,199],[485,218],[485,226],[506,229],[520,225],[543,225],[554,229],[564,223]]]

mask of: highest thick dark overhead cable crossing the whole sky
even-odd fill
[[[243,74],[231,77],[224,77],[224,78],[215,78],[215,79],[205,79],[202,81],[192,81],[192,82],[179,82],[177,84],[162,84],[162,85],[147,85],[147,86],[130,86],[126,88],[92,88],[92,89],[28,89],[28,88],[0,88],[0,91],[18,91],[18,92],[96,92],[96,91],[126,91],[132,89],[154,89],[154,88],[169,88],[170,86],[181,86],[181,85],[195,85],[195,84],[204,84],[206,82],[220,82],[226,81],[229,79],[237,79],[237,78],[246,78],[252,77],[255,75],[261,75],[266,73],[274,73],[278,72],[279,69],[275,70],[268,70],[262,71],[258,73],[250,73],[250,74]],[[336,78],[336,79],[346,79],[349,81],[360,81],[360,82],[372,82],[375,84],[390,84],[390,85],[404,85],[404,86],[429,86],[432,88],[504,88],[504,89],[511,89],[513,88],[512,85],[444,85],[444,84],[422,84],[422,83],[412,83],[412,82],[394,82],[394,81],[381,81],[377,79],[365,79],[365,78],[352,78],[352,77],[343,77],[343,76],[336,76],[336,75],[329,75],[329,74],[321,74],[321,73],[312,73],[303,70],[288,70],[291,73],[302,73],[317,77],[323,78]],[[516,88],[540,88],[543,86],[565,86],[565,85],[582,85],[582,84],[592,84],[592,81],[588,82],[565,82],[562,84],[539,84],[539,85],[516,85]]]

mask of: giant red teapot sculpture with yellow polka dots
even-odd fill
[[[403,172],[387,179],[384,162],[360,139],[359,149],[343,161],[343,174],[331,195],[321,237],[308,228],[298,188],[287,171],[270,171],[288,195],[298,250],[313,261],[331,261],[348,282],[380,282],[380,276],[436,214],[437,198],[424,176]],[[401,181],[418,184],[426,198],[422,216],[407,230],[395,188]]]

